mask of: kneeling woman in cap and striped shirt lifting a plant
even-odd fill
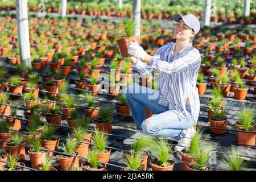
[[[125,96],[138,132],[125,139],[125,144],[132,144],[132,138],[140,138],[143,133],[181,137],[175,147],[175,151],[181,151],[189,147],[189,138],[195,134],[192,126],[197,122],[200,111],[196,80],[201,56],[192,47],[192,40],[200,30],[200,22],[192,14],[175,14],[173,19],[178,22],[174,28],[176,43],[160,47],[154,56],[148,55],[136,42],[129,43],[128,53],[132,56],[133,67],[140,74],[160,72],[160,91],[134,84],[126,88]],[[152,99],[152,94],[158,97]],[[145,106],[155,115],[146,119]]]

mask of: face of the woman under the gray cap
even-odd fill
[[[192,28],[188,27],[183,19],[180,19],[179,22],[177,22],[176,27],[174,28],[174,36],[178,40],[187,40],[190,39],[193,36],[193,30]]]

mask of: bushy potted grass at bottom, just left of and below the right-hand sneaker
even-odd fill
[[[168,141],[164,138],[155,138],[150,144],[150,151],[155,156],[150,160],[152,171],[172,171],[174,161],[168,159],[172,155],[172,149]]]

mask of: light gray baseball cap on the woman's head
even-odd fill
[[[184,16],[181,16],[180,14],[175,14],[174,16],[172,16],[172,19],[175,20],[175,22],[179,22],[179,19],[182,18],[184,23],[192,28],[195,31],[195,34],[197,34],[200,30],[200,22],[199,19],[196,18],[195,15],[193,14],[187,14]]]

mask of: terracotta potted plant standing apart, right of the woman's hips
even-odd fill
[[[210,132],[214,134],[224,134],[226,133],[226,123],[228,122],[228,117],[225,116],[225,111],[221,110],[220,112],[218,110],[213,111],[213,116],[209,117],[210,122]],[[217,129],[213,129],[217,128]],[[219,130],[220,129],[220,130]]]

